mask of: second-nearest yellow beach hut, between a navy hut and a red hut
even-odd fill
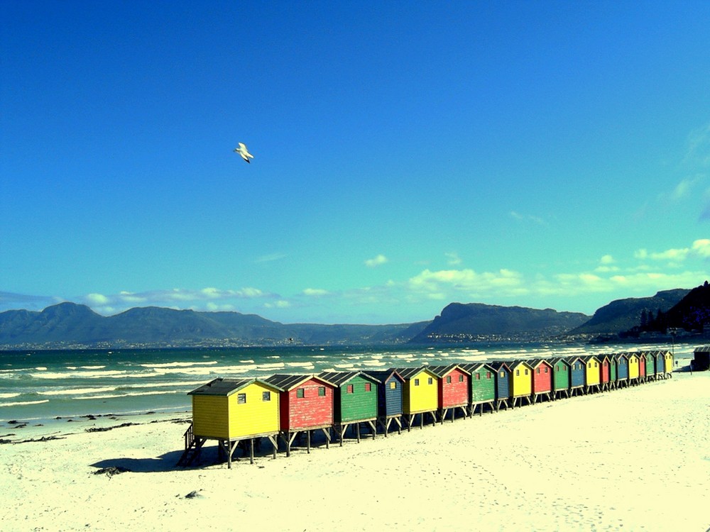
[[[404,379],[402,388],[402,414],[410,431],[415,416],[420,416],[420,426],[424,428],[426,414],[437,423],[439,411],[439,377],[426,367],[400,367],[395,369]]]

